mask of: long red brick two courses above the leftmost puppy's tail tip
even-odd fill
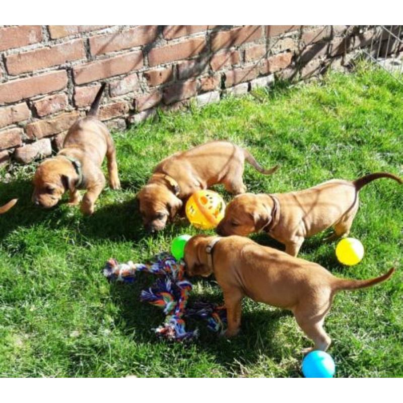
[[[139,25],[128,31],[97,35],[90,38],[92,55],[116,50],[130,49],[154,41],[158,34],[158,25]]]

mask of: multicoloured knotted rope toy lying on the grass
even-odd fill
[[[147,272],[162,276],[148,290],[143,290],[140,300],[155,305],[165,313],[164,324],[155,329],[159,337],[168,340],[189,340],[196,338],[197,329],[185,330],[183,317],[201,318],[208,322],[208,328],[220,331],[226,322],[226,311],[215,304],[196,302],[193,308],[186,304],[192,289],[191,283],[184,278],[185,262],[176,260],[167,252],[156,255],[150,263],[118,263],[109,259],[104,268],[104,275],[110,281],[132,283],[137,272]]]

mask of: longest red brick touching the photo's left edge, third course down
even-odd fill
[[[65,88],[66,84],[67,74],[65,70],[9,81],[0,84],[0,104],[59,91]]]

